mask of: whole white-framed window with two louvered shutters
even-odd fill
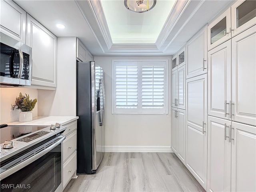
[[[113,114],[167,114],[167,60],[113,60]]]

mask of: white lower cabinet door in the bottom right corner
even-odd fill
[[[256,128],[232,122],[231,191],[256,191]]]

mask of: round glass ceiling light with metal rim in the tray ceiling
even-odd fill
[[[124,0],[124,6],[136,13],[143,13],[151,10],[156,5],[156,0]]]

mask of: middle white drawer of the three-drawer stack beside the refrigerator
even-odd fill
[[[67,136],[63,142],[63,160],[64,162],[76,150],[76,131]]]

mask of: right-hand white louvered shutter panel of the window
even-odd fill
[[[164,66],[142,66],[142,109],[164,108]]]

